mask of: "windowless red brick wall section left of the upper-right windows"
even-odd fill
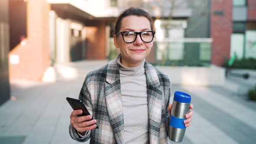
[[[224,58],[230,58],[230,35],[232,34],[232,0],[212,0],[210,36],[212,63],[222,66]]]

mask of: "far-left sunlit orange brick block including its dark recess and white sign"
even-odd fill
[[[44,0],[9,0],[10,79],[40,80],[51,65],[49,9]]]

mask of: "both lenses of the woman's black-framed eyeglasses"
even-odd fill
[[[126,43],[131,43],[131,42],[135,41],[135,39],[136,39],[135,32],[125,32],[123,36],[124,36],[124,40]],[[142,32],[141,39],[144,42],[151,42],[153,39],[153,33],[152,32]]]

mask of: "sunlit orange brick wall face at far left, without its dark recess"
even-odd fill
[[[11,27],[16,26],[17,23],[18,21]],[[51,64],[48,30],[49,4],[45,0],[29,0],[26,23],[25,44],[18,44],[9,53],[9,57],[19,56],[19,63],[13,64],[10,61],[10,79],[39,81]]]

